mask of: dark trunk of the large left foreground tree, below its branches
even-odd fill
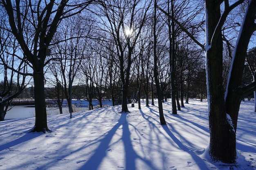
[[[43,75],[43,68],[40,72],[33,74],[34,78],[34,96],[35,96],[35,110],[36,110],[36,123],[32,132],[49,132],[51,130],[47,127],[47,114],[45,107],[45,82]]]

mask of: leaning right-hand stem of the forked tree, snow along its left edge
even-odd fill
[[[256,1],[249,1],[249,8],[245,14],[243,24],[240,29],[238,40],[236,42],[236,48],[232,57],[232,67],[229,73],[229,81],[227,82],[226,90],[226,108],[227,113],[230,115],[233,122],[234,130],[236,131],[238,111],[242,99],[252,93],[254,88],[241,88],[242,77],[245,63],[245,57],[247,55],[247,47],[249,40],[256,31],[255,26],[255,15],[256,15]]]

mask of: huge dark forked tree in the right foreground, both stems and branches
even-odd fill
[[[222,6],[223,3],[223,6]],[[236,46],[232,55],[226,92],[224,93],[222,64],[223,37],[222,27],[233,9],[240,4],[247,4],[247,10],[241,22]],[[243,5],[244,5],[243,4]],[[224,10],[222,9],[224,8]],[[179,26],[206,51],[206,76],[209,105],[210,144],[209,155],[215,161],[225,163],[236,162],[236,128],[241,100],[256,89],[256,82],[242,84],[243,68],[249,40],[256,31],[255,0],[237,0],[229,4],[228,0],[205,0],[206,11],[206,43],[200,44],[180,22]]]

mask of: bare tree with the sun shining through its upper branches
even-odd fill
[[[150,4],[151,1],[144,0],[104,1],[101,3],[102,9],[99,11],[101,12],[99,18],[103,27],[114,40],[115,53],[120,62],[122,81],[121,112],[128,112],[127,93],[130,69],[134,61],[132,52],[146,21]]]

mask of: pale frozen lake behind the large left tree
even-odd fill
[[[60,114],[58,107],[54,108],[46,108],[47,115],[58,115]],[[63,106],[63,113],[69,113],[68,107]],[[88,107],[74,107],[74,112],[80,112],[88,110]],[[27,118],[27,117],[35,117],[35,107],[34,106],[13,106],[11,110],[7,111],[4,119],[19,119],[19,118]]]

